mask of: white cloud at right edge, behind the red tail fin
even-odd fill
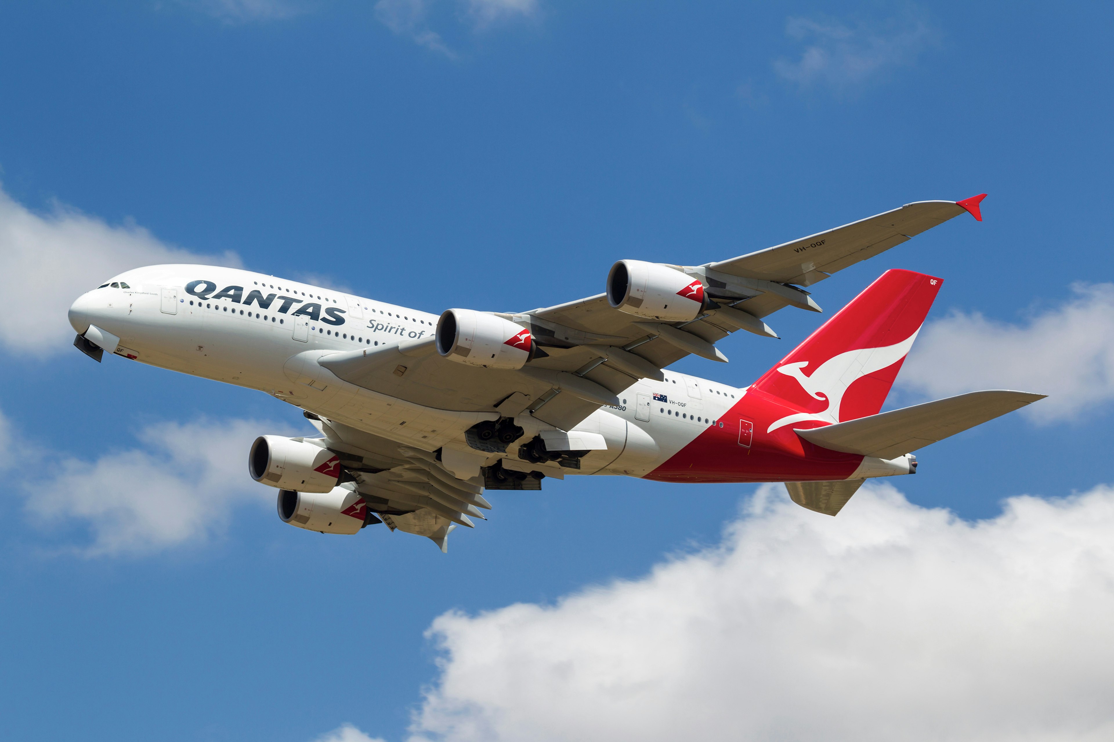
[[[1024,324],[952,311],[926,325],[898,376],[931,397],[976,389],[1047,394],[1023,415],[1067,421],[1114,399],[1114,284],[1072,287],[1073,297]]]

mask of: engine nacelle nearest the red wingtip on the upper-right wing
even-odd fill
[[[636,317],[686,321],[705,307],[704,285],[657,263],[619,260],[607,274],[607,303]]]

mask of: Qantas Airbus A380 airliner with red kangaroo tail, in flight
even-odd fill
[[[698,266],[619,260],[606,291],[519,313],[440,316],[285,278],[199,265],[135,268],[79,297],[75,345],[265,392],[320,437],[262,435],[252,478],[278,516],[322,533],[383,523],[442,551],[489,489],[546,477],[784,482],[836,515],[911,452],[1040,399],[976,392],[879,414],[939,278],[888,270],[747,387],[665,370],[735,330],[778,337],[803,287],[964,212],[985,194],[918,201]]]

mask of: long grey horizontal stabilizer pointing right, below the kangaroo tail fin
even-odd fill
[[[1044,399],[1045,396],[1004,389],[971,392],[847,423],[795,432],[805,441],[831,451],[889,459],[962,433],[1037,399]]]

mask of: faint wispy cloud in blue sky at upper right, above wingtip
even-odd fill
[[[774,71],[801,88],[836,91],[859,87],[896,67],[911,65],[932,42],[934,31],[907,13],[881,22],[848,24],[827,17],[791,17],[785,33],[804,44],[800,59],[780,59]]]

